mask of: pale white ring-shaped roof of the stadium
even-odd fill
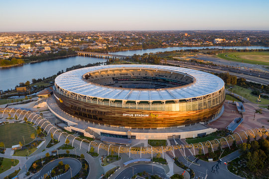
[[[119,68],[145,68],[145,69],[158,69],[169,70],[179,73],[186,73],[195,78],[195,82],[182,88],[174,89],[119,89],[106,86],[98,86],[88,83],[83,80],[83,75],[89,72],[103,70],[103,69],[119,69]],[[89,97],[119,99],[119,100],[136,100],[136,101],[151,101],[151,100],[176,100],[186,99],[193,97],[200,97],[213,92],[216,92],[224,87],[224,82],[219,77],[210,73],[180,68],[171,66],[160,65],[106,65],[95,66],[73,70],[59,75],[55,79],[55,84],[58,87],[68,90],[70,92],[87,95]]]

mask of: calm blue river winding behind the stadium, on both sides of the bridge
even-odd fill
[[[251,47],[168,47],[168,48],[156,48],[156,49],[142,49],[142,50],[127,50],[121,52],[112,52],[111,54],[118,55],[142,55],[144,53],[165,52],[173,50],[185,50],[185,49],[202,49],[202,48],[220,48],[220,49],[269,49],[269,47],[251,46]],[[93,57],[68,57],[63,59],[44,61],[39,63],[26,64],[23,66],[0,68],[0,90],[14,89],[16,85],[26,81],[32,81],[32,79],[38,79],[43,77],[50,77],[57,74],[61,70],[72,67],[74,65],[87,65],[89,63],[106,62],[106,59],[93,58]]]

